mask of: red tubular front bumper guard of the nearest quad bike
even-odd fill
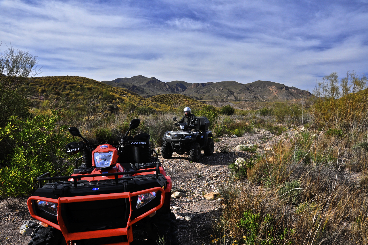
[[[171,183],[171,181],[170,181]],[[162,193],[160,204],[153,209],[147,211],[146,213],[142,214],[141,216],[138,216],[134,220],[130,220],[131,213],[132,213],[132,207],[131,207],[131,197],[132,196],[138,196],[144,193],[153,192],[153,191],[160,191]],[[41,218],[35,214],[32,207],[32,200],[43,200],[46,202],[53,202],[58,204],[58,210],[60,212],[60,204],[61,203],[72,203],[72,202],[86,202],[86,201],[94,201],[94,200],[106,200],[106,199],[118,199],[118,198],[129,198],[130,200],[130,215],[128,219],[128,224],[126,228],[118,228],[118,229],[110,229],[110,230],[101,230],[99,231],[85,231],[85,232],[76,232],[76,233],[69,233],[63,218],[61,217],[60,213],[57,215],[57,222],[59,225],[54,224],[48,220],[45,220],[44,218]],[[112,193],[112,194],[102,194],[102,195],[90,195],[90,196],[77,196],[77,197],[59,197],[59,199],[50,199],[45,197],[38,197],[38,196],[31,196],[27,200],[27,205],[29,209],[29,213],[33,218],[36,218],[37,220],[42,221],[43,223],[46,223],[58,230],[60,230],[66,241],[75,241],[80,239],[90,239],[90,238],[100,238],[100,237],[113,237],[117,235],[127,235],[128,242],[120,242],[120,243],[114,243],[114,245],[123,245],[123,244],[130,244],[133,241],[133,232],[131,225],[138,222],[142,218],[152,214],[153,212],[159,210],[162,205],[164,204],[165,200],[165,191],[160,188],[151,188],[146,190],[141,190],[139,192],[122,192],[122,193]],[[107,244],[106,244],[107,245]]]

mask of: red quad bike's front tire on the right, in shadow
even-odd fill
[[[151,218],[151,229],[147,231],[154,244],[177,245],[178,228],[175,214],[167,207],[160,208]]]

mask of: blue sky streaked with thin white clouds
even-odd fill
[[[40,76],[312,91],[334,71],[368,72],[368,0],[0,0],[0,16],[0,49],[35,53]]]

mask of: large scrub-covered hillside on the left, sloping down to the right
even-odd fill
[[[142,98],[141,95],[126,88],[111,87],[86,77],[35,77],[30,79],[26,86],[35,105],[45,100],[52,101],[56,107],[63,107],[64,104],[68,106],[72,102],[79,101],[111,105],[131,102],[138,106],[150,106],[158,110],[172,109],[171,106]]]

